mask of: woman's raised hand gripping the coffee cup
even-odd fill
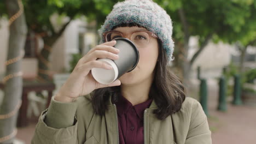
[[[89,94],[97,88],[119,86],[121,82],[116,80],[109,85],[98,83],[91,75],[92,68],[113,69],[110,65],[102,61],[96,61],[97,58],[118,59],[119,50],[113,47],[117,42],[109,41],[97,45],[91,49],[84,57],[79,59],[74,70],[67,81],[55,95],[55,100],[62,102],[71,102],[79,96]]]

